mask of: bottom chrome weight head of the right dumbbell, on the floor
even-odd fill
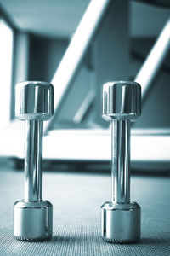
[[[107,201],[101,207],[101,236],[115,243],[137,242],[140,239],[140,207]]]

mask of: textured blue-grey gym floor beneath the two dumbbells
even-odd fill
[[[44,172],[43,199],[54,206],[51,241],[17,241],[13,204],[24,195],[24,173],[0,170],[0,255],[170,255],[170,177],[132,175],[131,200],[142,208],[141,241],[111,244],[100,237],[100,206],[111,200],[111,175]]]

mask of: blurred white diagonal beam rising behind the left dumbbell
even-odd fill
[[[51,83],[56,89],[54,94],[54,109],[57,115],[62,105],[66,92],[75,79],[77,69],[82,63],[82,58],[88,50],[89,44],[98,30],[100,22],[111,0],[91,0],[88,9],[82,16],[80,24],[74,33],[71,43],[65,51],[59,67]],[[44,123],[44,132],[47,133],[50,122]]]

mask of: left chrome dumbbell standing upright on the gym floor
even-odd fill
[[[14,203],[14,236],[23,241],[50,239],[53,206],[42,200],[43,121],[54,115],[54,86],[22,82],[15,86],[15,116],[25,126],[25,195]]]

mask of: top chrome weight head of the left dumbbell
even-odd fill
[[[54,115],[54,86],[27,81],[15,86],[15,116],[21,120],[48,120]]]

